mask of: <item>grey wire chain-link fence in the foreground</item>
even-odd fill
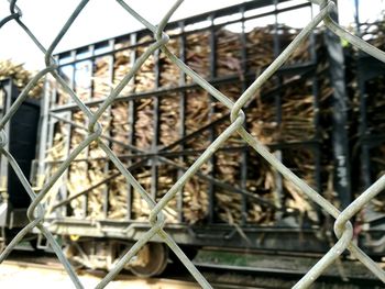
[[[279,171],[285,178],[295,184],[304,193],[306,193],[314,202],[318,203],[322,210],[336,219],[334,232],[339,241],[295,285],[294,288],[307,288],[309,287],[324,270],[326,268],[334,263],[339,256],[349,249],[352,255],[354,255],[362,264],[364,264],[369,270],[371,270],[375,276],[377,276],[382,281],[385,282],[385,271],[372,260],[363,251],[361,251],[355,244],[352,243],[353,237],[353,226],[350,220],[356,214],[366,203],[369,203],[377,193],[380,193],[385,188],[385,176],[382,176],[376,182],[374,182],[369,189],[361,193],[350,205],[342,212],[334,208],[329,201],[327,201],[317,191],[311,189],[302,179],[297,177],[292,170],[285,167],[270,151],[262,145],[258,140],[253,137],[243,126],[245,114],[242,108],[246,102],[254,96],[261,86],[273,76],[273,74],[288,59],[293,52],[306,40],[306,37],[311,33],[311,31],[320,23],[337,34],[339,37],[356,46],[361,51],[370,54],[371,56],[385,63],[385,53],[373,47],[365,41],[352,35],[346,30],[341,27],[336,23],[330,13],[336,10],[336,4],[330,0],[314,0],[312,2],[320,5],[320,12],[304,27],[304,30],[296,36],[296,38],[286,47],[285,51],[264,70],[261,76],[238,98],[235,102],[232,102],[227,96],[218,91],[215,87],[208,84],[201,76],[189,68],[184,62],[178,59],[168,48],[167,42],[169,37],[163,31],[167,24],[169,18],[182,4],[183,0],[177,0],[175,4],[169,9],[169,11],[163,16],[163,20],[158,25],[153,25],[148,23],[144,18],[142,18],[136,11],[134,11],[128,3],[123,0],[117,0],[118,3],[124,9],[130,16],[134,16],[140,21],[146,29],[148,29],[153,34],[155,42],[151,44],[144,54],[138,58],[129,74],[121,80],[121,82],[111,91],[109,97],[102,102],[96,112],[91,112],[87,105],[80,100],[80,98],[72,90],[72,88],[66,84],[66,81],[61,77],[57,69],[57,64],[54,60],[52,54],[58,43],[62,41],[63,36],[67,33],[68,29],[73,25],[75,19],[81,13],[84,8],[88,4],[89,0],[82,0],[74,10],[65,25],[62,27],[55,40],[52,42],[50,47],[45,48],[40,41],[36,38],[34,33],[22,21],[22,11],[16,5],[16,0],[10,1],[10,14],[0,21],[0,27],[2,27],[8,22],[16,22],[24,33],[36,44],[40,51],[44,54],[46,67],[37,73],[29,85],[23,89],[21,95],[18,97],[15,102],[12,104],[11,109],[0,121],[1,129],[1,142],[0,149],[4,157],[8,159],[9,164],[18,175],[23,187],[28,191],[32,203],[28,210],[28,218],[30,223],[20,231],[20,233],[12,240],[12,242],[6,247],[6,249],[0,255],[0,263],[3,262],[10,252],[15,247],[15,245],[21,242],[23,236],[29,233],[34,227],[38,229],[40,232],[46,237],[51,247],[57,255],[61,263],[64,265],[66,271],[68,273],[72,281],[76,288],[82,288],[81,282],[74,268],[65,257],[59,244],[55,241],[52,233],[44,225],[44,209],[43,199],[47,194],[48,190],[58,180],[62,174],[69,167],[70,163],[80,154],[82,149],[90,145],[91,142],[97,142],[99,147],[106,153],[108,158],[114,164],[118,170],[124,176],[127,181],[136,189],[141,197],[146,201],[151,208],[151,214],[148,222],[151,223],[151,230],[148,230],[131,248],[127,254],[124,254],[114,267],[107,274],[107,276],[100,281],[97,288],[105,288],[119,273],[122,270],[124,265],[133,258],[138,252],[155,235],[158,235],[168,247],[176,254],[179,260],[186,266],[194,278],[202,288],[211,288],[210,284],[205,279],[200,271],[194,266],[194,264],[186,257],[184,252],[174,242],[174,240],[167,234],[163,229],[165,224],[165,216],[163,214],[163,209],[165,205],[175,197],[175,194],[182,189],[182,187],[189,180],[197,170],[202,166],[205,162],[208,162],[213,153],[220,148],[227,140],[233,135],[239,134],[242,138],[257,152],[262,157],[264,157],[271,166],[273,166],[277,171]],[[231,125],[220,134],[208,147],[207,149],[196,159],[194,165],[178,179],[176,184],[168,190],[168,192],[156,203],[150,194],[145,191],[143,187],[138,182],[138,180],[131,175],[131,173],[125,168],[121,160],[112,153],[111,148],[103,143],[101,140],[101,133],[103,127],[98,122],[102,113],[111,105],[114,99],[123,90],[123,88],[130,82],[138,70],[141,68],[143,63],[156,51],[162,51],[179,69],[182,69],[186,75],[191,77],[201,88],[213,96],[218,101],[223,103],[229,111],[231,111]],[[62,88],[72,97],[78,108],[87,115],[88,135],[70,154],[69,157],[59,166],[57,171],[44,184],[43,188],[38,193],[35,193],[31,185],[29,184],[26,177],[23,175],[18,163],[7,149],[7,142],[4,125],[10,121],[12,115],[18,111],[21,103],[26,99],[29,91],[37,84],[37,81],[44,78],[46,75],[52,75]]]

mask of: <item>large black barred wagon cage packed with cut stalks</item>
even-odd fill
[[[234,100],[299,32],[285,22],[304,10],[312,11],[311,3],[251,1],[204,13],[169,23],[168,48]],[[310,20],[307,14],[304,23]],[[56,59],[62,76],[94,110],[152,42],[147,31],[138,31],[63,52]],[[338,46],[339,40],[314,31],[244,111],[245,126],[254,136],[317,191],[345,207],[351,201],[348,143],[341,146],[336,138],[346,134],[345,116],[331,113],[331,105],[343,107],[346,98],[344,86],[331,75],[343,75]],[[40,175],[52,174],[87,127],[68,95],[55,82],[47,87],[48,125],[41,137]],[[105,142],[160,199],[230,124],[229,119],[220,102],[155,53],[100,121]],[[138,240],[148,229],[143,200],[97,145],[80,154],[53,190],[56,199],[47,207],[56,233]],[[216,240],[222,246],[302,251],[312,240],[312,251],[328,247],[320,236],[328,222],[319,207],[237,136],[186,184],[165,213],[177,243],[210,245]],[[119,230],[129,224],[135,224],[130,237]],[[262,232],[266,241],[261,243],[256,236]],[[282,233],[288,237],[285,246],[277,242]],[[304,234],[304,242],[298,241]],[[241,242],[240,235],[245,236]]]

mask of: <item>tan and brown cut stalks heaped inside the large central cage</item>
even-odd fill
[[[249,25],[248,20],[243,22],[243,26]],[[198,31],[188,31],[186,24],[186,29],[170,27],[168,47],[232,100],[299,31],[270,25],[232,32],[223,24],[213,23]],[[241,21],[235,24],[242,26]],[[331,173],[316,169],[321,162],[319,149],[328,137],[318,122],[321,112],[329,113],[323,107],[330,101],[332,89],[328,86],[322,37],[315,34],[311,41],[312,45],[310,41],[305,43],[278,76],[248,103],[245,126],[319,190],[327,186],[320,175]],[[129,73],[151,42],[152,36],[145,32],[132,33],[61,54],[58,62],[68,85],[92,110]],[[50,175],[84,140],[87,124],[84,113],[61,87],[52,88],[48,107],[47,137],[52,142],[46,147],[44,174]],[[128,168],[134,167],[130,171],[158,200],[229,125],[229,111],[178,71],[167,57],[156,53],[100,123],[106,143]],[[72,164],[52,194],[66,199],[82,191],[86,192],[65,208],[55,207],[56,199],[47,205],[55,207],[58,215],[75,219],[147,220],[144,200],[131,191],[123,176],[117,176],[117,169],[96,144]],[[168,203],[165,213],[169,223],[274,225],[289,218],[299,225],[318,224],[317,210],[294,185],[282,179],[240,137],[233,136]]]

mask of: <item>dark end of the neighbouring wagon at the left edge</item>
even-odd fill
[[[3,116],[19,97],[20,90],[10,78],[0,81],[0,89],[4,92],[0,109]],[[38,121],[40,102],[28,99],[4,125],[8,140],[6,149],[13,155],[26,178],[31,177],[33,170],[32,159],[35,157],[37,144],[34,138],[37,136]],[[0,204],[7,205],[2,212],[4,215],[0,215],[0,227],[21,229],[29,223],[26,209],[31,199],[4,155],[1,155],[0,162],[1,193],[7,196],[6,200],[0,198]]]

